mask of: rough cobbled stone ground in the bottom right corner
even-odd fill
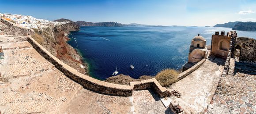
[[[237,72],[234,76],[223,77],[207,113],[256,114],[256,75]]]

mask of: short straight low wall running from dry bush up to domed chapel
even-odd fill
[[[206,61],[206,59],[202,59],[201,61],[199,61],[198,63],[196,63],[194,66],[192,66],[191,68],[189,68],[188,70],[181,72],[181,74],[178,75],[178,80],[181,80],[183,78],[185,78],[187,75],[189,75],[190,73],[192,73],[193,71],[195,71],[197,68],[199,68],[204,62]]]

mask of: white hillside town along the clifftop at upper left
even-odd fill
[[[0,18],[3,18],[7,21],[11,21],[15,24],[18,24],[20,26],[26,27],[26,28],[44,28],[47,27],[50,23],[52,24],[65,24],[68,23],[66,21],[64,22],[56,22],[56,21],[49,21],[45,19],[37,19],[32,16],[26,16],[21,14],[1,14]]]

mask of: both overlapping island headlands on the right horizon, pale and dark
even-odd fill
[[[227,27],[232,28],[232,30],[241,30],[241,31],[256,31],[256,22],[228,22],[224,24],[217,24],[213,27]]]

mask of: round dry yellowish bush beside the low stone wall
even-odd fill
[[[163,86],[166,87],[167,85],[172,84],[173,82],[177,81],[179,73],[173,69],[165,69],[156,75],[155,79]]]

